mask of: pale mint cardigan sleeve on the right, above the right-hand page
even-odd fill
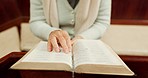
[[[111,0],[101,0],[98,17],[94,24],[78,34],[84,39],[99,39],[110,26]]]

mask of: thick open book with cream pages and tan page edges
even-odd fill
[[[56,70],[86,74],[128,75],[134,73],[119,56],[100,40],[77,40],[69,54],[48,52],[47,42],[41,41],[11,69]]]

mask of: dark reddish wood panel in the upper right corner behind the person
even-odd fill
[[[112,0],[112,19],[148,20],[148,0]]]

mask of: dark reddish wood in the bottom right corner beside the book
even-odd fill
[[[148,57],[121,55],[122,60],[135,73],[135,78],[148,78]]]

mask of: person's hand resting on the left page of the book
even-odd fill
[[[60,47],[65,53],[69,53],[71,51],[70,36],[66,31],[63,30],[52,31],[48,38],[48,51],[54,50],[56,52],[59,52]]]

